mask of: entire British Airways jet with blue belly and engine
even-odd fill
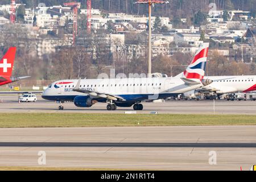
[[[96,102],[107,103],[108,110],[118,107],[131,107],[142,110],[143,100],[158,100],[209,85],[212,80],[205,80],[205,64],[207,63],[209,43],[204,43],[183,76],[148,77],[148,78],[115,78],[60,80],[53,82],[43,92],[46,100],[60,102],[59,110],[63,110],[64,101],[73,101],[77,107],[90,107]]]

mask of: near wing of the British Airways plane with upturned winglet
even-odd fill
[[[117,101],[117,100],[125,101],[125,98],[120,97],[120,96],[116,96],[116,95],[113,95],[113,94],[104,93],[104,92],[97,92],[97,91],[92,91],[92,90],[86,90],[86,89],[80,89],[80,82],[81,82],[81,79],[79,79],[79,81],[77,82],[77,85],[75,86],[75,88],[73,88],[73,91],[86,93],[90,96],[108,98],[108,99],[114,100],[114,101]]]

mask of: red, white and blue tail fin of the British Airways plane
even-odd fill
[[[196,55],[193,57],[193,60],[188,65],[187,69],[176,77],[202,80],[204,78],[205,65],[207,63],[208,49],[209,43],[201,44],[198,51],[196,52]]]

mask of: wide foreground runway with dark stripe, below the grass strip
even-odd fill
[[[0,166],[249,170],[256,163],[255,131],[256,126],[0,129]],[[46,165],[38,164],[39,151],[46,152]],[[211,152],[216,165],[209,164]]]

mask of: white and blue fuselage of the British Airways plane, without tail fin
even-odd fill
[[[88,94],[74,92],[78,80],[60,80],[53,82],[42,97],[53,101],[73,101],[76,96]],[[80,82],[80,89],[90,92],[108,93],[120,96],[125,101],[158,100],[176,96],[189,90],[200,88],[203,84],[187,85],[180,78],[117,78],[85,79]],[[93,97],[93,96],[91,96]],[[106,100],[97,98],[100,102]]]

